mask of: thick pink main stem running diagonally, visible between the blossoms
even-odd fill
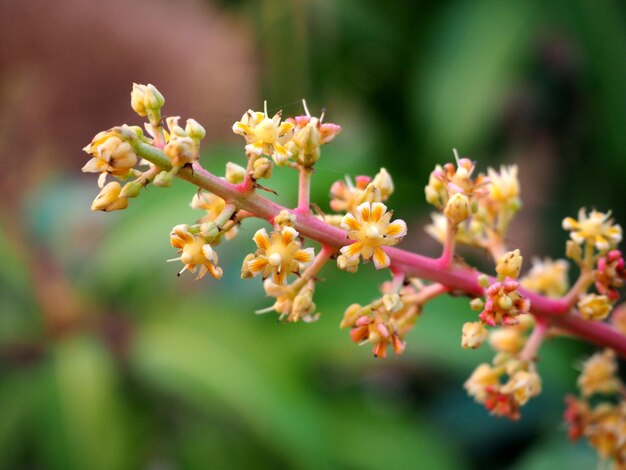
[[[133,146],[143,158],[165,170],[171,168],[169,159],[160,150],[138,141],[134,141]],[[246,210],[266,220],[272,220],[281,210],[286,209],[256,193],[242,194],[237,186],[209,173],[199,163],[194,163],[193,168],[181,169],[177,176],[232,202],[238,209]],[[339,248],[349,242],[346,232],[326,224],[311,214],[298,214],[295,228],[303,236],[329,247]],[[384,249],[394,268],[403,270],[408,277],[419,277],[441,283],[451,292],[476,297],[483,295],[483,288],[478,284],[478,277],[481,273],[475,269],[451,266],[449,270],[443,271],[438,259],[394,247],[384,247]],[[613,348],[626,357],[624,335],[606,323],[587,321],[574,315],[567,299],[549,299],[521,288],[520,293],[530,299],[535,317],[545,318],[575,336]]]

